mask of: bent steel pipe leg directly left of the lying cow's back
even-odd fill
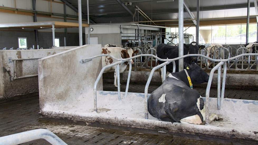
[[[150,72],[149,78],[148,78],[148,80],[147,80],[147,83],[146,83],[145,89],[144,89],[145,119],[148,119],[148,88],[149,88],[149,85],[150,85],[150,82],[151,82],[153,73],[154,73],[155,70],[157,70],[157,69],[159,69],[159,68],[161,68],[161,67],[163,67],[163,66],[166,66],[166,65],[169,64],[169,63],[170,63],[169,61],[163,62],[162,64],[153,67],[153,69],[152,69],[151,72]]]

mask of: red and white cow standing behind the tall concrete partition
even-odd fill
[[[118,59],[120,59],[121,57],[123,59],[125,58],[129,58],[134,56],[134,54],[137,54],[138,50],[133,51],[133,49],[123,49],[121,47],[102,47],[102,54],[110,54]],[[133,60],[130,60],[131,63],[133,64]],[[112,57],[109,56],[102,56],[102,67],[113,64],[117,62],[117,60],[114,60]],[[120,64],[120,73],[123,73],[127,67],[128,62],[124,62],[122,64]],[[114,71],[114,85],[115,87],[117,87],[117,66],[112,66],[109,67],[108,69],[106,69],[104,71],[105,72],[112,72]]]

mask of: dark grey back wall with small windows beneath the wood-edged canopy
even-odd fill
[[[36,45],[34,31],[6,31],[0,30],[0,47],[7,49],[13,47],[17,49],[18,37],[27,37],[27,47],[30,48],[32,45]],[[64,46],[65,33],[56,32],[55,38],[59,38],[60,46]],[[48,49],[52,47],[52,32],[38,32],[39,47]],[[85,35],[83,35],[83,44],[85,44]],[[79,46],[79,34],[78,33],[67,33],[66,46]],[[35,47],[36,48],[36,47]]]

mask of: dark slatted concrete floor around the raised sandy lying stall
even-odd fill
[[[151,85],[149,87],[150,93],[157,87]],[[122,85],[121,90],[123,91],[124,88],[125,85]],[[105,84],[104,90],[116,91],[116,88],[113,87],[113,84]],[[143,93],[144,85],[132,84],[129,91]],[[198,89],[198,91],[202,95],[205,93],[205,89]],[[256,92],[226,90],[226,96],[228,95],[229,98],[236,99],[248,99],[248,96],[252,96],[249,98],[257,100]],[[211,94],[216,95],[216,89],[212,89]],[[193,141],[113,129],[40,122],[38,120],[38,94],[22,96],[21,99],[0,100],[0,106],[0,137],[37,128],[46,128],[53,131],[68,144],[215,144],[212,142]],[[47,144],[47,142],[37,140],[25,144]]]

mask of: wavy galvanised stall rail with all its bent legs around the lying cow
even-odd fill
[[[144,91],[144,95],[145,95],[145,119],[148,119],[148,103],[147,103],[147,100],[148,100],[148,88],[149,88],[149,85],[150,85],[150,82],[151,82],[151,79],[152,79],[152,76],[154,74],[154,71],[163,67],[163,78],[166,78],[166,65],[168,65],[170,62],[173,63],[173,72],[175,72],[175,60],[179,60],[179,59],[183,59],[185,57],[191,57],[191,56],[200,56],[200,57],[204,57],[208,60],[211,60],[211,61],[217,61],[219,62],[210,72],[210,76],[209,76],[209,80],[208,80],[208,84],[207,84],[207,88],[206,88],[206,124],[208,125],[209,124],[209,92],[210,92],[210,88],[211,88],[211,83],[212,83],[212,78],[213,78],[213,74],[214,74],[214,71],[218,70],[218,100],[217,100],[217,108],[218,110],[221,109],[221,106],[223,104],[223,100],[224,100],[224,91],[225,91],[225,83],[226,83],[226,72],[227,72],[227,62],[228,61],[231,61],[231,60],[235,60],[235,59],[238,59],[239,57],[243,57],[243,56],[258,56],[257,53],[249,53],[249,54],[241,54],[241,55],[237,55],[237,56],[234,56],[234,57],[231,57],[231,58],[228,58],[228,59],[212,59],[212,58],[209,58],[205,55],[202,55],[202,54],[187,54],[187,55],[184,55],[184,56],[180,56],[180,57],[177,57],[177,58],[174,58],[174,59],[161,59],[155,55],[152,55],[152,54],[141,54],[141,55],[136,55],[136,56],[133,56],[133,57],[129,57],[129,58],[126,58],[126,59],[117,59],[116,57],[112,56],[112,55],[109,55],[109,54],[101,54],[101,55],[96,55],[96,56],[93,56],[93,57],[90,57],[88,59],[82,59],[80,60],[80,63],[85,63],[85,62],[88,62],[88,61],[91,61],[92,59],[94,58],[97,58],[97,57],[101,57],[101,56],[109,56],[109,57],[112,57],[114,60],[117,60],[118,62],[115,62],[113,64],[110,64],[110,65],[107,65],[107,66],[104,66],[102,68],[102,70],[100,71],[99,75],[98,75],[98,78],[97,80],[95,81],[94,83],[94,111],[97,112],[97,84],[104,72],[105,69],[109,68],[109,67],[112,67],[112,66],[115,66],[117,65],[117,73],[119,74],[119,65],[121,63],[124,63],[126,61],[129,61],[131,59],[135,59],[136,57],[142,57],[142,56],[152,56],[154,57],[155,59],[157,60],[160,60],[160,61],[165,61],[164,63],[154,67],[151,72],[150,72],[150,75],[149,75],[149,78],[147,80],[147,83],[145,85],[145,91]],[[223,80],[222,80],[222,90],[221,90],[221,84],[220,84],[220,80],[221,80],[221,66],[223,65]],[[129,81],[130,81],[130,75],[131,75],[131,63],[129,61],[129,73],[128,73],[128,79],[127,79],[127,85],[126,85],[126,94],[125,96],[127,96],[127,92],[128,92],[128,87],[129,87]],[[117,84],[118,85],[118,100],[121,100],[121,94],[120,94],[120,76],[117,76]]]

